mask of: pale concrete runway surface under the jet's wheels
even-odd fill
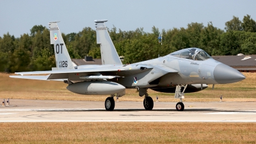
[[[0,122],[256,122],[256,102],[154,102],[146,111],[143,102],[115,102],[106,111],[104,102],[11,99],[0,107]]]

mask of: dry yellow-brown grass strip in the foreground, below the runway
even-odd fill
[[[256,143],[255,123],[0,123],[0,143]]]

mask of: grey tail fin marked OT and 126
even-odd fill
[[[51,44],[54,44],[57,70],[74,69],[57,22],[49,22],[49,29]]]

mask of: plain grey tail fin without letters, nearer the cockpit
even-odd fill
[[[97,35],[97,44],[100,44],[102,65],[122,65],[116,48],[109,36],[104,22],[108,20],[94,20]]]

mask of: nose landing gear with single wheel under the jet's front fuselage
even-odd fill
[[[178,102],[176,104],[177,111],[183,111],[184,110],[184,104],[182,102],[182,99],[184,99],[184,92],[185,92],[187,86],[188,86],[188,84],[186,84],[186,85],[178,84],[176,86],[175,99],[180,99],[180,102]],[[182,92],[180,92],[181,88],[184,88]]]

